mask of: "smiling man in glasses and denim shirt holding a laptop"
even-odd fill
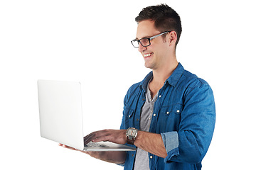
[[[215,126],[213,91],[176,60],[181,20],[174,9],[149,6],[135,20],[132,45],[152,72],[127,91],[121,130],[92,132],[85,143],[110,141],[137,151],[85,153],[124,169],[201,169]]]

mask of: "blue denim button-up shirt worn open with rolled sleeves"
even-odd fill
[[[151,77],[152,72],[127,91],[121,129],[139,129],[146,85]],[[179,63],[159,90],[149,129],[149,132],[161,134],[168,156],[161,158],[149,153],[150,169],[201,169],[214,126],[213,91],[206,81],[186,71]],[[124,169],[133,169],[135,155],[136,151],[127,152]]]

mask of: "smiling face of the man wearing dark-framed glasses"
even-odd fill
[[[154,28],[154,21],[141,21],[137,27],[137,40],[141,38],[150,38],[154,35],[161,33],[159,30]],[[148,47],[143,47],[139,43],[139,52],[141,52],[142,57],[144,57],[145,67],[149,69],[158,69],[163,64],[166,64],[166,55],[168,52],[168,42],[159,36],[151,40],[151,45]]]

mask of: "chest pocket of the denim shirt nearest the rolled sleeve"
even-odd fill
[[[181,122],[182,104],[163,106],[160,110],[158,127],[159,132],[178,131]]]

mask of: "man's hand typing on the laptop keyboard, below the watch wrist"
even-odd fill
[[[125,144],[127,142],[126,130],[100,130],[92,132],[84,137],[85,144],[91,141],[109,141],[117,144]]]

